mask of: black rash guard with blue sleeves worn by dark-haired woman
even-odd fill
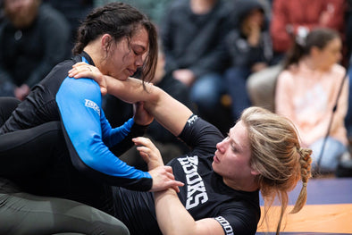
[[[0,128],[0,135],[31,129],[46,122],[61,122],[66,142],[63,148],[67,147],[70,153],[71,161],[68,164],[71,165],[63,165],[56,176],[70,172],[70,177],[66,177],[66,182],[58,182],[60,185],[55,187],[62,188],[57,189],[57,192],[65,191],[66,188],[70,188],[70,192],[66,195],[49,193],[50,196],[68,197],[89,204],[85,199],[80,200],[88,197],[84,194],[88,193],[89,185],[109,184],[145,191],[151,189],[152,178],[148,172],[125,164],[113,154],[119,145],[126,147],[130,138],[143,135],[145,127],[138,126],[132,118],[119,128],[111,127],[101,108],[102,96],[98,84],[90,79],[68,77],[72,65],[81,61],[94,64],[89,55],[83,52],[56,65]],[[131,147],[133,143],[130,141],[128,145]],[[35,157],[33,161],[36,161]],[[80,197],[70,197],[68,194],[80,194]]]

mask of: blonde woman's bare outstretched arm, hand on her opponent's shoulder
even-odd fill
[[[155,120],[178,136],[183,130],[192,112],[186,105],[172,98],[161,88],[153,84],[144,83],[141,80],[129,78],[117,80],[103,75],[96,67],[87,63],[76,63],[69,76],[74,78],[92,78],[99,83],[102,91],[118,97],[128,103],[145,102],[145,108],[155,116]]]

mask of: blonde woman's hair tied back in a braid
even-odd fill
[[[279,234],[288,193],[302,180],[302,189],[291,214],[298,213],[306,204],[306,183],[311,177],[312,150],[299,145],[297,130],[292,122],[260,107],[244,110],[240,120],[246,125],[252,151],[250,164],[256,172],[257,183],[264,197],[265,214],[275,197],[281,202]],[[265,216],[264,214],[264,216]]]

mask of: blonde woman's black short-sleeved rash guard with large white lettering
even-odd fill
[[[259,192],[230,189],[212,169],[216,144],[223,137],[213,125],[197,116],[189,118],[180,138],[193,150],[173,159],[175,180],[185,183],[178,194],[195,220],[214,218],[226,235],[255,234],[260,219]],[[153,193],[113,188],[116,217],[130,234],[162,234],[155,215]]]

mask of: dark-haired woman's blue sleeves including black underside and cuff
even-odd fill
[[[94,80],[63,80],[56,102],[72,163],[94,179],[127,189],[149,190],[152,178],[124,163],[109,150],[130,132],[133,121],[113,130],[101,109],[100,88]],[[105,142],[104,142],[105,141]]]

